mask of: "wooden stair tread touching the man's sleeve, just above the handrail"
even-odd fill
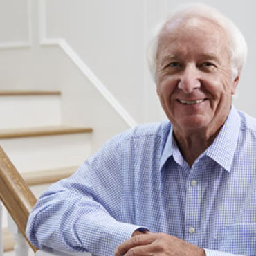
[[[21,176],[28,185],[42,185],[46,183],[54,183],[65,179],[77,170],[78,166],[63,167],[53,170],[39,170],[33,172],[24,172]]]

